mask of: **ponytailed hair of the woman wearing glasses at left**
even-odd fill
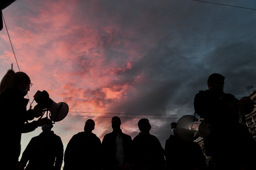
[[[0,83],[0,94],[4,92],[6,89],[16,87],[23,81],[26,81],[27,84],[30,84],[30,78],[24,72],[14,72],[14,70],[9,69],[4,77],[1,79]]]

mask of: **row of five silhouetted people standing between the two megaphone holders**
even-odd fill
[[[27,145],[18,169],[60,170],[63,152],[63,170],[204,170],[207,167],[199,144],[184,141],[175,132],[166,141],[165,151],[158,138],[149,133],[148,119],[138,121],[140,132],[133,140],[122,132],[119,117],[113,117],[111,123],[113,131],[101,142],[92,133],[94,120],[87,119],[84,131],[70,139],[64,152],[62,141],[51,131],[53,124],[48,119],[42,126],[43,132]]]

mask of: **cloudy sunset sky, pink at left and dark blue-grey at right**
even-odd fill
[[[102,141],[113,116],[132,138],[148,118],[164,148],[210,74],[238,99],[256,87],[255,0],[17,0],[2,13],[12,46],[4,24],[0,77],[13,64],[31,78],[30,102],[46,90],[68,104],[53,128],[64,149],[89,118]],[[41,132],[22,135],[22,152]]]

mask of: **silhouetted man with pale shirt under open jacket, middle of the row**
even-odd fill
[[[102,140],[104,170],[129,170],[132,137],[122,132],[119,117],[113,117],[111,124],[113,131]]]

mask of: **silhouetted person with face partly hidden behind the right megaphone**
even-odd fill
[[[206,159],[200,145],[180,138],[176,125],[176,122],[171,123],[173,135],[165,142],[166,170],[206,170]]]

